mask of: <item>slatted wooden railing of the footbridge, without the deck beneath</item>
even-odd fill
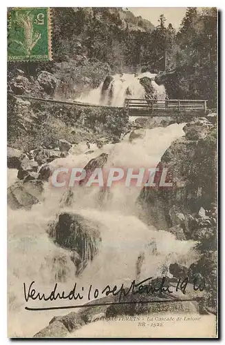
[[[188,112],[207,110],[207,101],[205,99],[125,99],[127,111],[132,112]]]

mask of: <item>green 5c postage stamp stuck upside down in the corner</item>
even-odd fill
[[[50,61],[51,43],[50,8],[8,12],[8,61]]]

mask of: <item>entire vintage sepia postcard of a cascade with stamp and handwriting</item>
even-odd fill
[[[218,337],[217,21],[8,8],[8,337]]]

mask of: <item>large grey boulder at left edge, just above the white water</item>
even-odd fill
[[[25,208],[30,210],[32,205],[37,204],[41,200],[41,193],[43,192],[42,182],[34,181],[17,181],[7,190],[7,201],[10,208],[17,210],[18,208]]]

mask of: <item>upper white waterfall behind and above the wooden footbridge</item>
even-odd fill
[[[147,77],[151,79],[151,84],[156,92],[156,98],[164,99],[166,91],[164,86],[158,86],[154,77],[156,74],[144,72],[137,74],[120,74],[112,77],[107,90],[104,90],[103,83],[100,83],[98,88],[92,90],[87,95],[83,95],[76,99],[83,103],[98,104],[102,106],[123,106],[126,98],[145,98],[144,87],[140,84],[140,79]]]

